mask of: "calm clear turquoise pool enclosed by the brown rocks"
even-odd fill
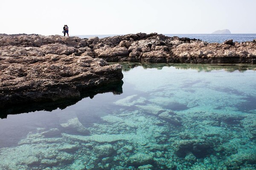
[[[141,65],[122,94],[1,119],[0,169],[256,168],[254,65]]]

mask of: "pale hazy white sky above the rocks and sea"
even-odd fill
[[[256,34],[256,0],[1,0],[0,34]]]

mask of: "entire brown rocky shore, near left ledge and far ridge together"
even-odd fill
[[[79,97],[122,81],[108,62],[256,63],[256,40],[222,44],[138,33],[99,39],[0,34],[0,108]]]

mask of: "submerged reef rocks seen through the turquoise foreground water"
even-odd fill
[[[256,168],[256,110],[242,113],[212,105],[208,111],[200,111],[197,106],[201,101],[175,108],[174,101],[157,95],[119,99],[113,103],[118,109],[90,126],[73,117],[58,128],[37,128],[18,146],[0,148],[0,169]]]

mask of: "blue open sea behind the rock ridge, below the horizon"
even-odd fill
[[[195,38],[200,39],[206,42],[218,42],[222,43],[226,40],[232,39],[233,42],[246,42],[246,41],[253,41],[256,39],[256,34],[164,34],[169,37],[188,37],[188,38]],[[90,38],[90,37],[113,37],[115,35],[77,35],[80,38]]]

